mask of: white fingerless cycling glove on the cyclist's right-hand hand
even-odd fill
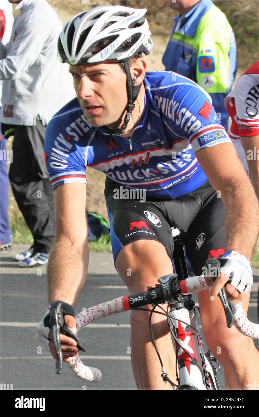
[[[220,272],[229,276],[230,284],[240,293],[247,294],[253,285],[252,267],[248,259],[239,252],[229,251],[219,256]]]

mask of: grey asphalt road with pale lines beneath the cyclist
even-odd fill
[[[54,359],[39,347],[35,327],[47,308],[46,267],[18,268],[14,254],[27,249],[27,245],[13,245],[13,249],[0,252],[0,383],[12,384],[21,390],[135,390],[129,352],[130,325],[128,311],[99,320],[83,329],[79,339],[86,349],[83,362],[101,369],[101,381],[84,382],[67,369],[55,374]],[[254,270],[254,286],[248,317],[257,318],[257,290],[259,270]],[[128,294],[126,286],[113,266],[111,254],[91,252],[88,283],[76,304],[78,313],[83,307],[108,301]],[[204,340],[203,340],[204,342]],[[259,349],[259,341],[255,342]],[[224,373],[218,374],[224,389]]]

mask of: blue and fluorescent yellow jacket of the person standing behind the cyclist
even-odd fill
[[[237,70],[234,33],[224,13],[211,0],[202,0],[181,17],[163,55],[168,71],[175,71],[201,85],[212,98],[213,106],[226,124],[228,113],[224,97],[231,90]],[[178,25],[179,26],[179,25]]]

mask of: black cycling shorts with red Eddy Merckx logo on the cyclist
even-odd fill
[[[117,199],[123,187],[106,178],[105,198],[111,230],[114,263],[118,252],[138,239],[152,239],[163,244],[173,259],[171,227],[180,229],[180,238],[195,274],[210,256],[224,253],[225,228],[222,199],[206,181],[192,193],[167,201]]]

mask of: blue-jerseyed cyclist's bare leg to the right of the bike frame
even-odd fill
[[[246,313],[249,295],[242,301]],[[208,291],[200,292],[198,297],[205,340],[210,351],[224,367],[226,389],[256,387],[259,384],[259,352],[253,340],[239,333],[234,326],[227,328],[219,298],[210,301]]]

